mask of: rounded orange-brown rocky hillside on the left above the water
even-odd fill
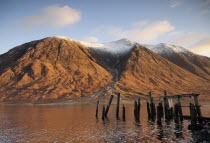
[[[59,37],[15,47],[0,56],[0,101],[50,102],[80,98],[112,82],[89,49]]]

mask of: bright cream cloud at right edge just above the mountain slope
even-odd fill
[[[189,49],[197,54],[210,57],[210,36],[192,45]]]

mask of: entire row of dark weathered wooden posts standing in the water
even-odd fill
[[[198,95],[199,94],[182,94],[182,95],[174,95],[174,96],[167,96],[167,92],[164,91],[164,96],[162,100],[155,106],[154,97],[152,97],[151,92],[149,92],[149,99],[150,103],[147,102],[147,113],[148,119],[155,121],[157,119],[157,124],[162,124],[162,119],[165,117],[165,120],[174,119],[175,123],[182,122],[184,118],[190,118],[191,124],[196,125],[197,123],[202,124],[203,119],[208,119],[208,117],[202,117],[200,105],[198,103]],[[105,107],[103,105],[102,108],[102,120],[107,117],[110,105],[113,100],[113,95],[110,96],[109,103]],[[180,99],[183,97],[194,97],[194,104],[190,103],[189,106],[182,106]],[[176,104],[174,106],[171,105],[169,100],[176,99]],[[170,106],[169,106],[170,104]],[[98,106],[99,101],[97,101],[96,107],[96,117],[98,117]],[[119,107],[120,107],[120,93],[117,93],[117,106],[116,106],[116,119],[119,119]],[[190,116],[184,116],[182,113],[182,107],[189,107],[190,108]],[[140,98],[137,101],[134,101],[134,118],[136,122],[140,121]],[[125,106],[122,106],[122,119],[125,120]]]

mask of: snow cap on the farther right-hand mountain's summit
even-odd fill
[[[145,45],[145,46],[157,54],[189,53],[189,51],[186,50],[185,48],[166,43],[160,43],[157,45]]]

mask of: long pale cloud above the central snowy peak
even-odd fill
[[[157,39],[165,33],[173,31],[174,26],[170,22],[164,21],[139,21],[133,23],[129,29],[122,29],[114,26],[102,26],[94,30],[97,33],[103,33],[114,36],[116,38],[128,38],[139,42],[149,42]]]

